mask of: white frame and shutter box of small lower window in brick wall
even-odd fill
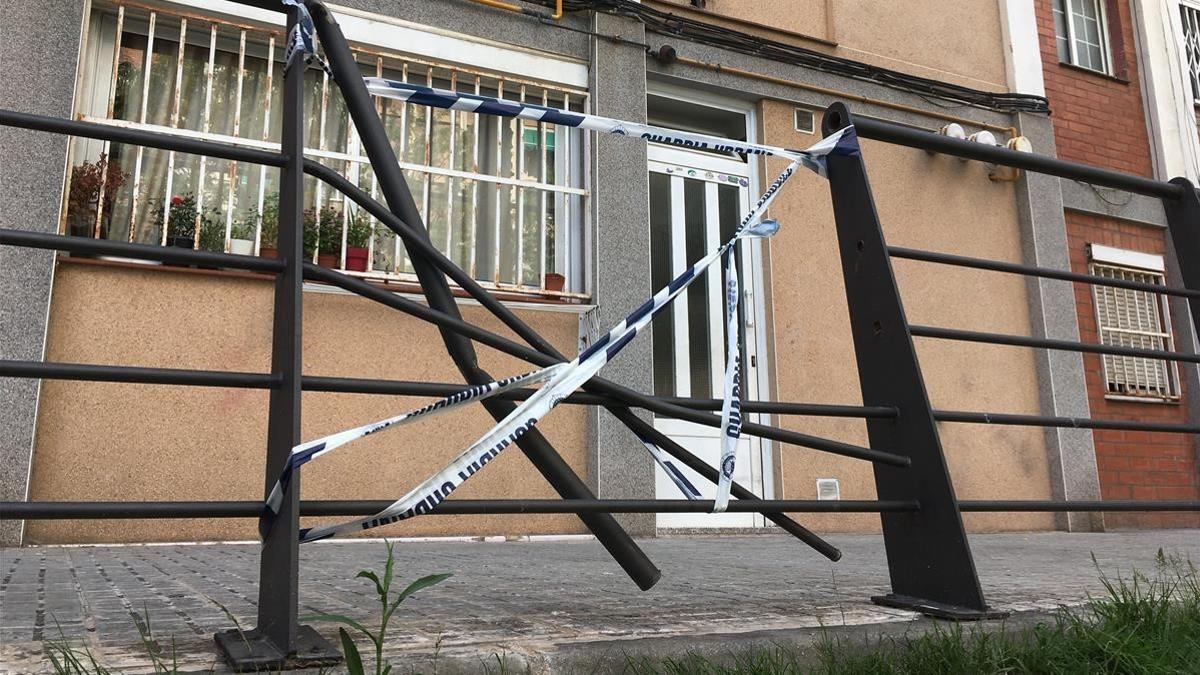
[[[1104,246],[1100,244],[1088,245],[1088,271],[1091,274],[1103,275],[1103,270],[1110,270],[1112,273],[1127,273],[1136,274],[1142,276],[1153,277],[1153,282],[1166,283],[1166,265],[1163,256],[1153,253],[1144,253],[1140,251],[1129,251],[1124,249],[1116,249],[1112,246]],[[1100,294],[1102,293],[1142,293],[1141,291],[1124,291],[1121,288],[1115,288],[1111,286],[1092,286],[1092,310],[1096,315],[1096,334],[1100,344],[1108,344],[1104,341],[1105,334],[1109,333],[1126,333],[1135,334],[1140,336],[1153,338],[1156,340],[1162,340],[1162,345],[1157,348],[1163,351],[1175,351],[1175,338],[1171,329],[1171,313],[1170,305],[1168,304],[1168,298],[1164,294],[1157,294],[1151,298],[1153,301],[1153,307],[1157,311],[1158,318],[1158,330],[1135,330],[1135,329],[1123,329],[1117,327],[1105,327],[1102,324],[1102,311],[1100,311]],[[1120,295],[1114,299],[1114,304],[1120,303]],[[1135,300],[1136,303],[1136,300]],[[1133,311],[1136,311],[1134,307]],[[1112,387],[1112,381],[1109,377],[1110,366],[1116,359],[1122,359],[1123,365],[1128,370],[1132,365],[1133,370],[1136,372],[1139,368],[1153,368],[1156,371],[1162,372],[1165,378],[1165,394],[1134,394],[1134,393],[1117,393],[1110,390]],[[1132,362],[1132,364],[1130,364]],[[1103,378],[1104,398],[1115,401],[1134,401],[1145,404],[1177,404],[1181,396],[1180,386],[1180,369],[1176,362],[1160,360],[1160,359],[1144,359],[1139,357],[1118,357],[1110,354],[1100,354],[1100,376]],[[1135,375],[1136,377],[1136,375]]]

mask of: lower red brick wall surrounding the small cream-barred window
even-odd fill
[[[1070,267],[1081,273],[1088,271],[1087,244],[1157,255],[1165,250],[1160,229],[1074,211],[1067,211],[1067,240]],[[1091,286],[1075,285],[1075,305],[1080,339],[1099,342]],[[1188,422],[1183,405],[1105,399],[1099,354],[1084,354],[1084,370],[1088,405],[1096,419]],[[1093,438],[1102,498],[1200,500],[1200,464],[1192,435],[1097,430]],[[1109,513],[1104,520],[1108,527],[1200,527],[1196,513]]]

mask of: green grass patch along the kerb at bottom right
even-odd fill
[[[815,655],[778,646],[715,659],[630,657],[625,670],[636,675],[1200,673],[1200,577],[1189,560],[1159,550],[1153,573],[1116,578],[1100,573],[1100,580],[1103,596],[1081,608],[1061,609],[1032,628],[989,632],[974,625],[938,623],[919,635],[865,643],[826,637]]]

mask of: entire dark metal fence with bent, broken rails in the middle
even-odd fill
[[[246,4],[276,6],[274,1]],[[445,395],[460,388],[455,384],[305,376],[300,365],[302,347],[300,328],[301,287],[306,279],[341,287],[436,324],[460,372],[472,384],[493,380],[478,364],[475,342],[541,366],[566,360],[562,353],[557,352],[512,311],[476,283],[468,273],[456,267],[430,241],[391,144],[384,135],[384,126],[364,86],[358,65],[341,30],[319,0],[308,0],[307,6],[324,44],[332,79],[344,96],[350,118],[378,177],[379,191],[385,203],[364,193],[336,172],[304,157],[302,65],[293,65],[284,73],[282,151],[278,154],[149,131],[0,110],[0,124],[7,126],[202,154],[281,169],[281,215],[277,246],[280,257],[277,259],[0,229],[0,244],[12,246],[88,255],[115,255],[146,261],[202,264],[274,274],[275,312],[270,374],[0,362],[0,376],[6,377],[268,389],[270,402],[264,477],[264,486],[268,490],[275,477],[280,474],[292,448],[301,441],[299,431],[300,393],[302,390]],[[292,7],[288,12],[289,30],[296,22],[298,10]],[[300,64],[300,61],[295,64]],[[1094,185],[1160,198],[1170,222],[1170,233],[1177,251],[1177,264],[1186,288],[1164,288],[1060,269],[888,246],[880,227],[862,157],[830,157],[829,183],[864,405],[832,406],[745,401],[742,410],[774,414],[860,418],[868,425],[870,446],[859,447],[763,424],[745,424],[742,430],[750,436],[872,462],[878,500],[760,500],[746,488],[734,485],[733,495],[737,501],[731,502],[730,510],[761,513],[830,560],[840,558],[841,552],[786,514],[878,513],[883,524],[893,592],[874,599],[883,604],[916,609],[935,616],[958,619],[978,619],[994,614],[989,610],[979,589],[974,562],[962,527],[960,515],[962,512],[1200,510],[1200,502],[1190,501],[958,501],[942,453],[936,428],[937,422],[1177,434],[1196,434],[1200,428],[1186,424],[934,410],[925,392],[913,347],[912,339],[914,336],[1138,356],[1187,363],[1198,363],[1200,359],[1190,353],[1132,350],[910,325],[905,317],[890,264],[893,257],[910,258],[938,264],[1166,293],[1187,298],[1195,319],[1200,318],[1200,201],[1198,201],[1195,189],[1184,179],[1162,183],[1050,157],[956,141],[872,119],[856,118],[840,103],[832,106],[826,112],[826,133],[848,124],[853,124],[863,138],[1085,180]],[[302,222],[305,174],[325,181],[332,189],[356,202],[403,240],[413,259],[427,304],[379,289],[340,271],[302,262],[302,238],[299,223]],[[524,344],[463,321],[451,295],[448,277],[499,318]],[[1200,330],[1200,325],[1196,328]],[[528,395],[528,390],[510,392],[485,401],[484,406],[490,414],[499,420],[514,410],[514,400],[521,400]],[[634,408],[718,426],[720,420],[712,414],[712,411],[720,410],[720,401],[650,396],[595,377],[583,387],[582,392],[572,394],[564,402],[604,407],[634,432],[658,443],[676,460],[704,478],[716,480],[716,468],[655,430],[653,425],[635,414]],[[449,500],[442,502],[431,515],[576,514],[629,577],[640,587],[649,589],[658,581],[660,572],[634,539],[617,524],[612,514],[707,512],[712,508],[712,503],[704,501],[598,500],[550,442],[538,434],[536,429],[532,429],[522,436],[517,444],[551,483],[562,500]],[[292,489],[288,491],[275,526],[262,549],[257,627],[245,637],[228,633],[217,635],[218,646],[238,668],[302,665],[336,658],[336,652],[316,632],[298,623],[299,519],[301,515],[372,514],[389,503],[373,501],[301,502],[299,494],[299,476],[296,476],[293,478]],[[257,518],[262,513],[262,502],[0,503],[0,518],[17,520]]]

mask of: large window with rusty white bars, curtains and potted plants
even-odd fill
[[[89,14],[77,113],[116,126],[278,149],[283,36],[134,4]],[[581,112],[586,91],[355,46],[365,76]],[[503,64],[497,64],[503,67]],[[305,73],[305,154],[380,198],[337,86]],[[532,120],[378,100],[430,237],[486,286],[582,295],[583,135]],[[71,148],[61,229],[84,237],[272,255],[278,171],[92,139]],[[368,277],[415,280],[376,219],[306,178],[305,252]]]

